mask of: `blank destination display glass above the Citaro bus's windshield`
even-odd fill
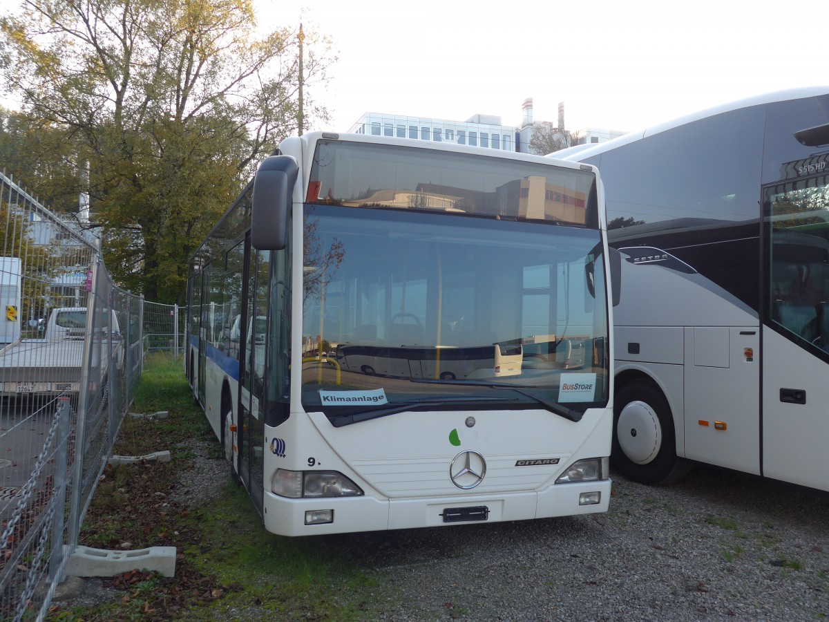
[[[594,174],[542,163],[322,140],[311,179],[309,203],[598,222]]]

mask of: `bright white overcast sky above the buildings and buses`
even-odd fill
[[[332,37],[308,87],[344,132],[363,113],[633,131],[776,90],[829,84],[820,2],[254,0],[260,29]],[[809,8],[811,7],[811,8]]]

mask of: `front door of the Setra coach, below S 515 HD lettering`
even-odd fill
[[[826,170],[820,157],[812,160],[812,169]],[[827,205],[829,175],[764,188],[763,472],[822,490],[829,490]]]

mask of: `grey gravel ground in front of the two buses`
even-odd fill
[[[194,449],[180,494],[203,503],[227,469]],[[817,620],[827,505],[829,493],[696,467],[667,488],[614,476],[604,514],[324,538],[375,579],[376,620]]]

